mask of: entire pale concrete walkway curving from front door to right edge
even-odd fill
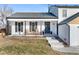
[[[55,39],[54,37],[47,37],[47,40],[49,42],[49,44],[51,45],[51,48],[56,50],[56,51],[60,51],[60,52],[64,52],[64,53],[72,53],[72,54],[79,54],[79,46],[75,46],[75,47],[64,47],[62,42],[59,42],[57,39]]]

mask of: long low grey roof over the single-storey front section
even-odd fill
[[[7,17],[8,19],[57,19],[58,17],[52,13],[47,12],[16,12],[11,16]]]

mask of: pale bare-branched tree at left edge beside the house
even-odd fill
[[[8,5],[3,5],[0,8],[0,22],[2,24],[2,26],[0,26],[0,28],[5,28],[7,25],[7,20],[6,17],[10,16],[13,13],[13,9],[8,7]]]

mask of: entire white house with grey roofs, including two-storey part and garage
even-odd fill
[[[11,36],[58,36],[69,46],[79,45],[79,6],[50,6],[47,13],[17,12],[7,17]]]

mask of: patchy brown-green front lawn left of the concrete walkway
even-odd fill
[[[59,55],[63,54],[51,49],[45,39],[1,39],[0,54],[2,55]]]

